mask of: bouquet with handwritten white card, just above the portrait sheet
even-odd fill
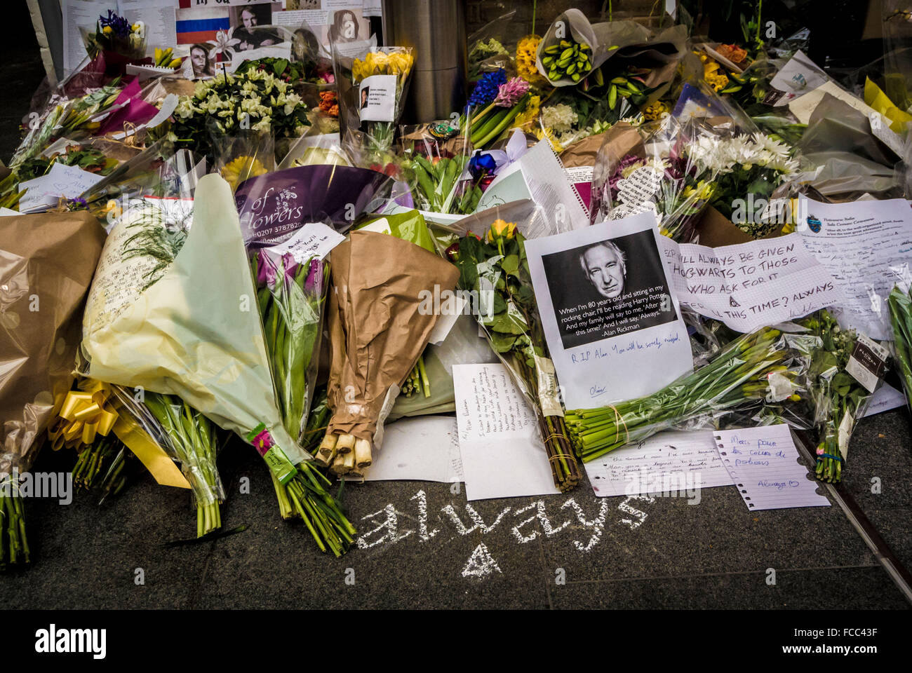
[[[697,160],[700,143],[711,146],[718,136],[699,122],[670,116],[641,129],[646,142],[621,157],[606,136],[593,170],[591,221],[652,211],[663,235],[688,243],[696,236],[696,218],[713,193],[717,171]]]

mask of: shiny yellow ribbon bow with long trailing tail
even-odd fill
[[[107,437],[113,430],[162,486],[189,489],[190,483],[167,453],[143,430],[129,413],[120,413],[119,401],[107,383],[92,378],[79,382],[79,390],[70,390],[60,409],[55,425],[48,430],[54,450],[73,447],[82,450],[98,436]]]

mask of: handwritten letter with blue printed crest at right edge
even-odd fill
[[[837,317],[879,341],[892,340],[886,296],[912,266],[912,208],[905,199],[821,203],[799,197],[807,249],[834,277]]]

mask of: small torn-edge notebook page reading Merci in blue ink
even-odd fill
[[[722,463],[749,510],[829,506],[817,492],[817,480],[799,461],[787,424],[720,430],[714,436]]]

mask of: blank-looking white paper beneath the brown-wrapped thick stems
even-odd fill
[[[383,449],[365,481],[462,481],[462,459],[456,419],[452,416],[420,416],[388,423]]]

